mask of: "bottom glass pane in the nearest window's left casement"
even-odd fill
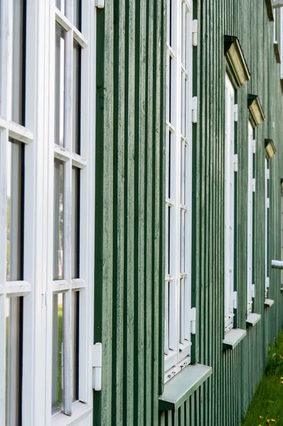
[[[6,297],[6,426],[21,423],[21,298]]]

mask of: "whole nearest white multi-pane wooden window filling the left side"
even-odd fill
[[[92,1],[1,1],[0,55],[0,425],[88,426]]]

